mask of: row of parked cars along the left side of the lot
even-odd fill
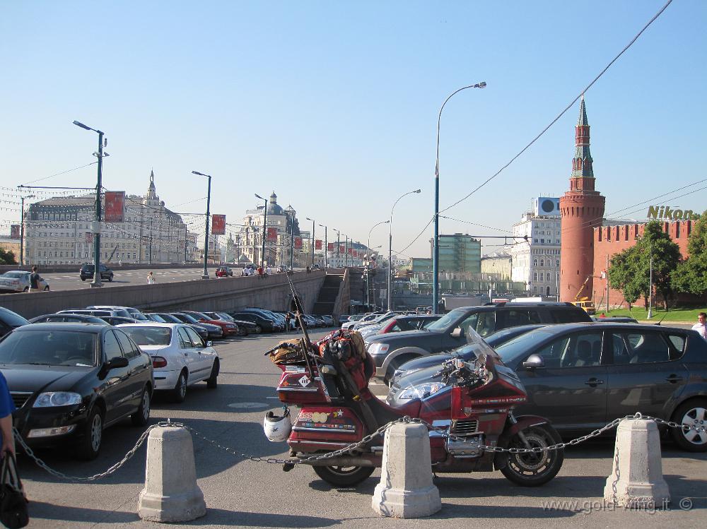
[[[16,406],[14,425],[30,446],[66,445],[78,458],[95,458],[106,427],[125,417],[147,424],[155,391],[180,403],[192,384],[218,386],[212,340],[291,323],[265,309],[238,314],[248,319],[92,306],[28,321],[0,307],[0,371]]]

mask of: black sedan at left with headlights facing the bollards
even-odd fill
[[[70,444],[93,459],[103,429],[124,417],[144,426],[152,361],[117,328],[33,323],[0,340],[0,371],[16,405],[15,427],[30,446]]]

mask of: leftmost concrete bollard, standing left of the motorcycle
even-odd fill
[[[204,516],[192,436],[184,428],[154,428],[147,439],[145,488],[138,516],[151,522],[186,522]]]

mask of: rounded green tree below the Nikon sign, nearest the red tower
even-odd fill
[[[680,260],[680,248],[663,232],[660,222],[645,225],[643,237],[636,244],[616,254],[609,263],[609,286],[621,290],[626,302],[643,297],[648,309],[650,268],[653,261],[653,287],[663,299],[665,309],[673,294],[671,275]]]

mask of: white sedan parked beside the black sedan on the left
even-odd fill
[[[187,386],[197,382],[206,381],[207,388],[216,388],[218,353],[190,326],[150,322],[118,327],[152,357],[155,389],[169,391],[173,401],[183,402]]]

